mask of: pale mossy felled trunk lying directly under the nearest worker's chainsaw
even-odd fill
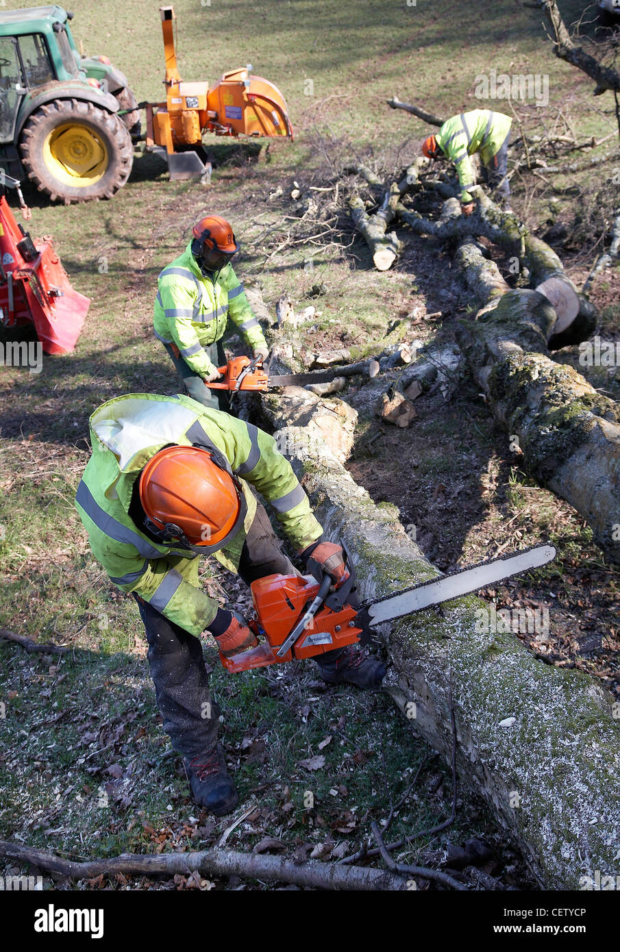
[[[345,469],[356,416],[348,405],[290,387],[262,395],[261,406],[326,536],[350,546],[362,599],[439,575],[398,510],[375,506]],[[322,438],[309,441],[309,431]],[[589,675],[537,661],[510,634],[485,633],[484,610],[469,597],[393,623],[386,689],[449,762],[453,710],[461,781],[490,804],[539,883],[575,889],[584,867],[611,874],[617,865],[620,731],[612,699]]]

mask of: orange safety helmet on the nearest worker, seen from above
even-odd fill
[[[230,542],[248,511],[241,484],[215,448],[165,446],[142,470],[138,492],[150,533],[198,554]]]

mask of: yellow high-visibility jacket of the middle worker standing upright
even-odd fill
[[[175,344],[191,369],[205,377],[212,365],[203,347],[224,336],[228,318],[250,347],[267,347],[265,336],[231,265],[206,277],[191,253],[191,242],[157,278],[155,337]]]

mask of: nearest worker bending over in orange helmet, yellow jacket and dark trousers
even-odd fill
[[[304,565],[311,558],[342,578],[342,548],[322,540],[308,497],[273,438],[228,413],[185,395],[129,394],[95,410],[90,442],[77,511],[95,558],[138,603],[164,730],[184,759],[192,794],[222,816],[237,794],[217,744],[220,710],[211,703],[200,635],[213,636],[226,657],[256,639],[241,615],[202,589],[198,556],[214,555],[248,585],[275,573],[298,574],[250,485],[275,510]],[[359,645],[312,660],[330,684],[376,687],[386,671]]]

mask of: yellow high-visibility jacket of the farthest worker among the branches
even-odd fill
[[[461,201],[472,201],[468,189],[476,184],[470,155],[480,152],[486,166],[501,149],[510,131],[512,120],[503,112],[491,109],[471,109],[451,116],[435,133],[435,141],[456,166],[461,184]]]

